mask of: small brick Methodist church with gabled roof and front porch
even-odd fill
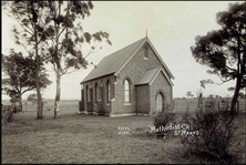
[[[107,116],[154,115],[173,101],[174,79],[143,38],[105,56],[81,82],[80,112]]]

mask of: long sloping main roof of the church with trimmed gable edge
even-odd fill
[[[150,45],[153,48],[152,43],[150,42],[148,38],[143,38],[105,58],[85,76],[85,79],[81,82],[91,81],[101,76],[110,75],[110,74],[117,74],[124,65],[127,63],[129,60],[137,52],[137,50],[145,43],[148,42]],[[154,48],[153,48],[154,49]],[[155,51],[155,49],[154,49]],[[155,51],[156,52],[156,51]],[[161,56],[157,54],[157,58],[162,62],[163,66],[167,70],[171,78],[174,78],[173,74],[170,72]]]

